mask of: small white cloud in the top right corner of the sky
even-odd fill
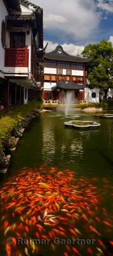
[[[113,2],[110,0],[108,2],[105,0],[98,0],[97,6],[106,12],[113,13]]]

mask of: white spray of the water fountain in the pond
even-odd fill
[[[63,110],[63,113],[65,113],[65,116],[68,116],[69,115],[69,111],[70,111],[70,106],[72,104],[74,104],[74,92],[71,91],[71,92],[63,92],[63,97],[62,97],[62,110]]]

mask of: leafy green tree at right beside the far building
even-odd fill
[[[101,88],[105,92],[105,99],[109,88],[113,88],[113,47],[111,42],[103,39],[98,44],[84,47],[83,56],[92,61],[88,68],[88,80],[91,88]]]

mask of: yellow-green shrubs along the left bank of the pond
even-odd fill
[[[1,113],[0,119],[0,169],[6,168],[10,162],[10,155],[5,151],[15,148],[18,137],[22,136],[22,128],[27,127],[29,120],[39,115],[41,102],[32,100],[29,104],[11,109],[8,113]],[[3,115],[2,115],[3,114]],[[6,172],[3,170],[2,172]]]

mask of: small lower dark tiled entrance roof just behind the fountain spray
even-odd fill
[[[58,81],[56,83],[56,88],[66,89],[66,90],[76,90],[85,88],[84,84],[76,84],[73,81]]]

